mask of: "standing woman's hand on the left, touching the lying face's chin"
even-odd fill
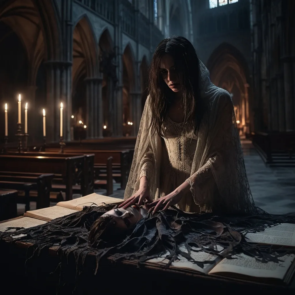
[[[149,181],[146,176],[142,176],[140,178],[140,185],[138,191],[127,199],[124,203],[122,203],[119,208],[126,209],[134,204],[142,205],[143,201],[147,200],[146,203],[152,203],[153,200],[150,197],[150,186]]]

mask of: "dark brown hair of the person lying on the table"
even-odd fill
[[[111,215],[104,215],[96,219],[89,231],[89,243],[97,247],[101,240],[119,241],[127,237],[128,232],[115,227],[115,220]]]

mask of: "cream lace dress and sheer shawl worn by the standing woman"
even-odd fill
[[[130,198],[139,189],[140,177],[150,181],[151,198],[156,200],[171,193],[183,181],[190,193],[178,207],[187,212],[219,214],[253,214],[255,206],[246,174],[244,157],[230,94],[216,87],[209,71],[199,60],[200,97],[208,104],[208,112],[198,134],[183,133],[182,124],[167,118],[163,138],[151,132],[149,94],[137,134],[134,156],[124,193]],[[165,129],[166,128],[166,129]]]

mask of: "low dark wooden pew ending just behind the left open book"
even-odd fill
[[[40,176],[21,176],[16,173],[1,171],[0,188],[24,191],[24,196],[17,197],[17,203],[25,204],[25,211],[30,210],[30,201],[36,201],[37,209],[49,207],[50,190],[54,174]],[[30,196],[31,191],[37,191],[37,198]]]

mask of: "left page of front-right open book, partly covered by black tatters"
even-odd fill
[[[195,250],[200,250],[199,248],[193,247]],[[182,249],[184,250],[184,249]],[[184,252],[187,253],[187,250],[185,249]],[[167,264],[169,262],[168,259],[165,259],[165,256],[169,255],[169,252],[167,252],[163,257],[153,258],[150,260],[147,260],[147,262],[150,263],[160,263],[160,264]],[[198,266],[197,264],[187,260],[182,255],[178,255],[178,260],[175,260],[171,263],[171,267],[175,268],[183,268],[183,269],[190,269],[194,271],[198,271],[201,273],[208,273],[219,261],[220,258],[217,255],[212,255],[207,252],[204,252],[202,250],[200,251],[191,251],[191,258],[194,261],[204,262],[204,261],[214,261],[214,263],[205,263],[204,268]]]

